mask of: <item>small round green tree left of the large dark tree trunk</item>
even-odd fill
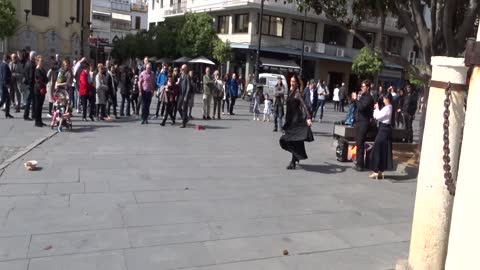
[[[352,71],[362,79],[376,80],[382,69],[382,59],[376,56],[368,47],[361,49],[360,53],[353,59]]]

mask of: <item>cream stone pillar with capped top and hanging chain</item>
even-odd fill
[[[431,63],[432,80],[465,84],[467,68],[463,58],[432,57]],[[464,97],[464,92],[452,91],[450,159],[454,179],[465,119]],[[408,269],[412,270],[442,270],[447,256],[453,196],[443,178],[444,100],[444,89],[430,88],[408,258]]]

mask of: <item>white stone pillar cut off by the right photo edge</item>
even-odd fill
[[[480,41],[480,29],[477,34]],[[458,169],[455,205],[448,245],[446,269],[478,269],[480,243],[480,177],[478,176],[478,132],[480,106],[480,66],[475,66],[468,90],[467,114],[463,130],[462,156]]]

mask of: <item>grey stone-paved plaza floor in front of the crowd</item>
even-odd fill
[[[295,171],[280,133],[252,121],[244,101],[236,116],[187,129],[75,118],[74,131],[0,177],[0,270],[393,269],[407,257],[416,183],[337,162],[331,132],[342,115],[331,108]],[[12,123],[49,132],[19,119],[0,129]],[[26,171],[29,159],[41,169]]]

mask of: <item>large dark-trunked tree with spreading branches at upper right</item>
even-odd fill
[[[478,27],[480,3],[478,0],[301,0],[298,8],[313,8],[318,14],[337,22],[354,34],[366,46],[367,40],[358,33],[368,18],[380,19],[379,36],[383,37],[385,18],[398,19],[397,27],[405,28],[409,37],[422,52],[427,70],[412,66],[407,59],[384,48],[381,38],[375,51],[385,60],[403,66],[408,72],[427,81],[431,75],[432,56],[456,57],[462,54],[465,41],[475,36]],[[427,7],[427,9],[425,9]],[[430,15],[425,13],[430,10]]]

